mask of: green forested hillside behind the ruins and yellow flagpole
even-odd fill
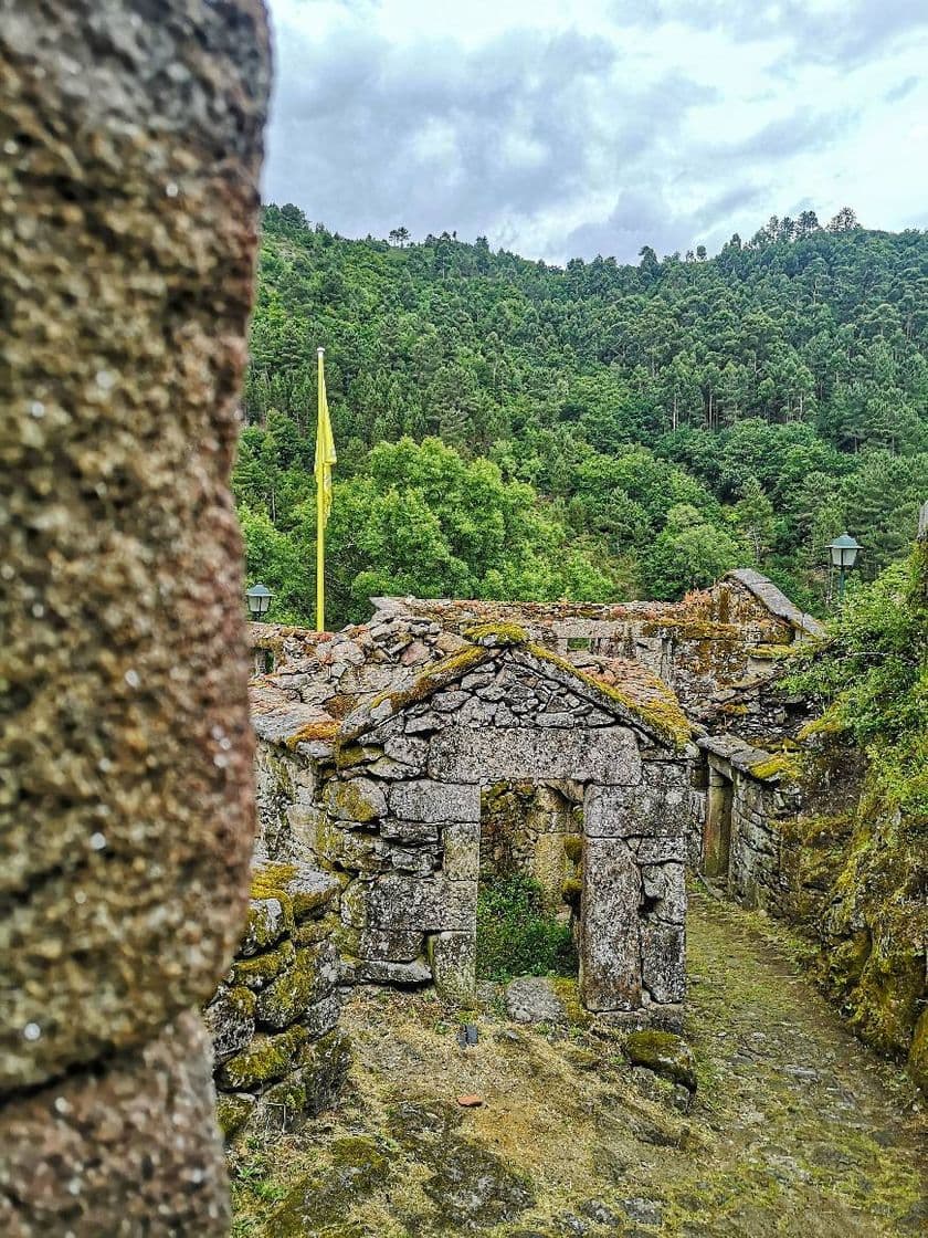
[[[674,598],[735,565],[822,613],[828,541],[872,578],[928,491],[928,233],[809,212],[562,270],[267,207],[235,491],[281,620],[312,617],[318,344],[329,625],[371,593]]]

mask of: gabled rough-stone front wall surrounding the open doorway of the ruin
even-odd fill
[[[663,712],[650,717],[505,629],[476,644],[452,638],[450,656],[436,659],[448,634],[413,624],[380,625],[387,652],[372,665],[389,666],[392,687],[367,693],[340,722],[313,712],[325,703],[307,665],[318,645],[272,686],[255,686],[262,844],[276,860],[309,848],[339,875],[346,978],[470,993],[481,790],[505,780],[569,785],[584,818],[583,1000],[603,1014],[676,1016],[695,755],[676,702],[651,685]],[[397,657],[413,645],[415,657]],[[339,661],[361,680],[350,654]],[[294,675],[307,675],[299,697]]]

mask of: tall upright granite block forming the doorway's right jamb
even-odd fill
[[[634,1010],[641,1004],[641,877],[621,838],[583,846],[580,997],[588,1010]]]

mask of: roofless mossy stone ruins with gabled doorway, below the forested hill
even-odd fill
[[[338,1089],[353,984],[475,987],[483,878],[570,919],[600,1018],[679,1023],[685,864],[777,910],[778,657],[817,635],[756,572],[674,604],[375,598],[335,634],[252,625],[251,919],[207,1023],[226,1135]]]

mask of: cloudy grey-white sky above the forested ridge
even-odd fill
[[[928,0],[270,0],[265,197],[348,236],[634,260],[928,227]]]

